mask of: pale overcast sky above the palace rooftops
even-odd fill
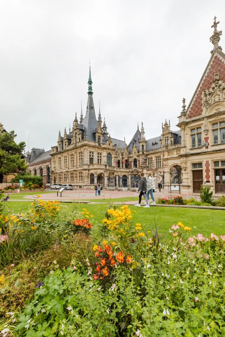
[[[95,113],[101,100],[111,137],[146,139],[170,119],[177,130],[210,58],[214,16],[223,30],[225,1],[2,0],[0,122],[16,141],[46,151],[68,132],[81,100],[86,112],[89,59]]]

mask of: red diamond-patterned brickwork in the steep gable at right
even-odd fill
[[[191,109],[188,112],[187,119],[202,115],[202,92],[209,89],[214,81],[215,72],[219,73],[219,77],[225,82],[225,63],[218,56],[215,56],[213,62],[203,80],[198,93],[192,103]]]

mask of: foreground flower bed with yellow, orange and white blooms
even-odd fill
[[[27,273],[24,254],[46,266],[34,273],[33,298],[27,288],[30,301],[20,313],[4,295],[10,330],[19,336],[225,335],[225,235],[193,236],[181,222],[163,236],[146,232],[126,205],[110,206],[93,226],[86,209],[60,214],[58,203],[35,200],[28,215],[10,215],[1,203],[8,274],[22,266]],[[9,287],[14,274],[1,273],[2,294],[17,291]]]

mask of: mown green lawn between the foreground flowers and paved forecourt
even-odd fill
[[[28,210],[31,202],[8,202],[8,206],[15,213]],[[107,205],[97,204],[61,204],[61,207],[74,207],[76,210],[86,208],[90,214],[94,215],[93,220],[102,222]],[[134,207],[129,206],[133,211],[133,221],[139,222],[147,230],[155,229],[155,223],[160,233],[168,233],[172,224],[181,221],[184,225],[192,227],[191,234],[202,233],[210,236],[213,232],[217,235],[225,235],[225,211],[194,209],[194,208],[177,208],[177,207]]]

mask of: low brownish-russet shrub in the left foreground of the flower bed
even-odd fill
[[[67,268],[72,260],[76,264],[82,262],[83,266],[85,258],[94,264],[92,240],[84,234],[76,234],[66,244],[55,244],[33,255],[31,259],[24,256],[18,265],[6,267],[2,271],[4,284],[0,288],[0,315],[6,316],[6,312],[22,309],[26,301],[33,298],[34,290],[50,271]]]

